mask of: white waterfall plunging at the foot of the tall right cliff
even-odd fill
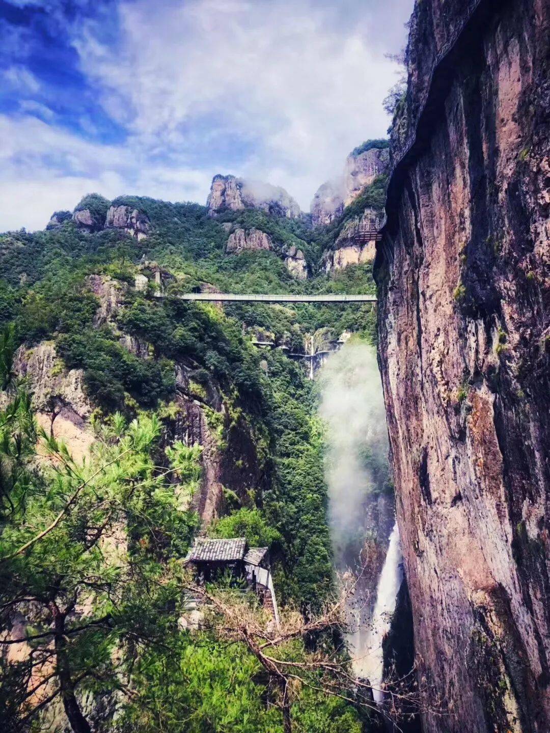
[[[378,704],[384,699],[384,693],[380,689],[384,671],[382,641],[389,631],[401,581],[403,581],[401,545],[399,529],[395,522],[389,537],[384,566],[378,578],[376,603],[370,626],[367,633],[362,633],[362,629],[356,630],[350,643],[353,647],[353,671],[357,677],[369,680],[373,686],[373,697]]]

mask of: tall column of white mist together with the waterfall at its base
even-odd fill
[[[381,702],[382,641],[403,580],[399,531],[389,487],[386,414],[373,347],[348,342],[320,371],[327,425],[326,482],[337,572],[353,578],[346,612],[357,677]]]

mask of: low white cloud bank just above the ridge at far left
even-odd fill
[[[209,173],[154,165],[131,145],[89,143],[36,117],[0,115],[0,139],[0,232],[43,229],[92,191],[202,201],[210,183]]]

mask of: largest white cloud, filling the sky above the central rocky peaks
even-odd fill
[[[310,0],[186,0],[154,14],[138,0],[120,6],[120,43],[103,45],[88,23],[76,47],[137,144],[196,160],[236,139],[252,150],[233,172],[284,185],[307,208],[345,155],[388,126],[396,66],[364,4],[345,5],[357,24]]]

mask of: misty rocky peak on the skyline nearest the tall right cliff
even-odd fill
[[[342,176],[323,183],[313,197],[311,215],[313,226],[330,224],[349,206],[365,186],[387,172],[389,150],[387,142],[372,141],[356,148],[345,160]],[[378,147],[377,147],[378,146]],[[362,150],[367,148],[367,150]]]

